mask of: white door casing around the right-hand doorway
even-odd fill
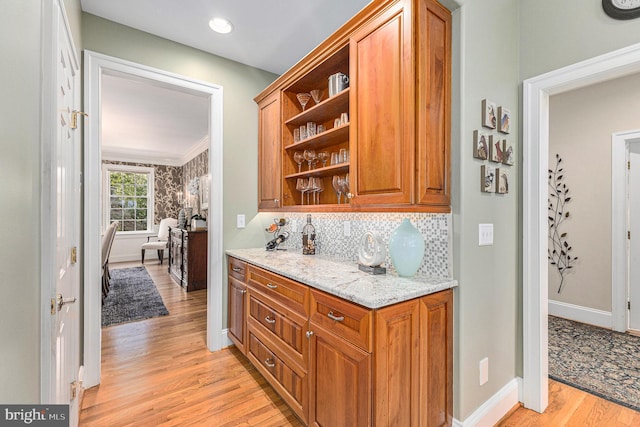
[[[640,44],[523,82],[523,396],[548,404],[547,171],[549,96],[640,71]]]

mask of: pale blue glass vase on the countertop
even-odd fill
[[[402,220],[389,239],[391,263],[401,277],[411,277],[422,265],[424,239],[408,218]]]

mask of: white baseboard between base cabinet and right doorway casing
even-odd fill
[[[514,378],[464,421],[454,419],[454,427],[492,427],[515,405],[522,395],[522,378]]]

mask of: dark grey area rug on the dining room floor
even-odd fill
[[[144,267],[111,270],[109,294],[102,305],[102,326],[166,316],[155,283]]]

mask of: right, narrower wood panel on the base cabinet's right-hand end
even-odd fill
[[[420,425],[453,423],[453,291],[420,299]]]

